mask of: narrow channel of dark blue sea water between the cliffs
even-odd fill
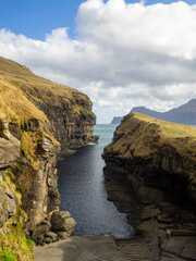
[[[115,238],[132,238],[134,229],[126,214],[119,213],[107,200],[101,159],[103,147],[113,137],[117,125],[96,125],[99,144],[77,149],[58,162],[60,210],[69,210],[76,220],[76,235],[114,235]]]

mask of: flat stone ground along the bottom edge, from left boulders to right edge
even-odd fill
[[[148,237],[74,236],[34,250],[35,261],[196,261],[196,237],[171,237],[159,253]]]

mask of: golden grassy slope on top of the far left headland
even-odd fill
[[[83,114],[87,113],[94,116],[90,110],[85,110],[82,105],[76,104],[76,100],[91,104],[89,98],[83,92],[39,77],[27,67],[2,57],[0,57],[0,76],[17,88],[20,87],[27,97],[35,101],[48,105],[59,105],[60,102],[63,102],[68,107],[72,107],[78,115],[83,112]]]

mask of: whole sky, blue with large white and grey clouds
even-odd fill
[[[196,1],[1,0],[0,55],[91,99],[98,123],[196,98]]]

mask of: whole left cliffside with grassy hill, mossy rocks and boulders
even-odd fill
[[[57,154],[96,141],[91,101],[0,58],[0,260],[32,260],[32,247],[74,232],[60,212]]]

